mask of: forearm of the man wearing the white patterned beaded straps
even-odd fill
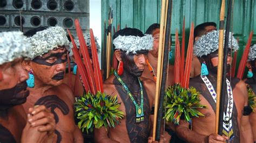
[[[176,128],[178,137],[186,142],[206,142],[207,135],[196,133],[187,127]]]

